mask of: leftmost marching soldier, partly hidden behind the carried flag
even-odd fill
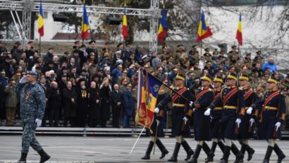
[[[164,95],[164,87],[160,87],[159,89],[159,95]],[[161,150],[161,157],[159,157],[159,159],[164,158],[167,154],[168,154],[168,150],[166,150],[166,147],[163,145],[163,143],[161,143],[161,140],[159,140],[158,135],[161,134],[161,120],[164,119],[164,107],[161,108],[156,108],[154,109],[155,112],[155,119],[154,119],[154,123],[152,123],[152,127],[151,130],[153,131],[152,133],[150,133],[152,140],[149,141],[149,146],[147,147],[147,152],[145,152],[144,157],[142,157],[142,159],[150,159],[150,153],[152,152],[152,148],[154,147],[154,143],[156,143],[156,145],[159,147],[159,150]],[[156,131],[157,129],[157,131]],[[157,134],[157,135],[156,135]]]

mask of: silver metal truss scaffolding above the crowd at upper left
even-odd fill
[[[30,40],[30,28],[31,28],[31,14],[32,12],[39,11],[39,3],[33,0],[22,1],[6,1],[0,0],[0,10],[9,10],[13,15],[14,11],[18,17],[17,11],[23,12],[22,22],[18,18],[20,29],[16,27],[21,36],[20,39],[24,43]],[[67,4],[48,4],[42,3],[43,11],[53,12],[68,12],[68,13],[82,13],[83,6],[81,5],[67,5]],[[87,13],[100,13],[110,15],[123,15],[124,8],[104,7],[104,6],[87,6]],[[157,32],[159,26],[159,18],[161,18],[161,10],[159,9],[159,0],[151,0],[151,6],[148,9],[142,8],[126,8],[126,15],[128,16],[146,16],[149,17],[150,23],[150,39],[149,47],[156,51],[157,49]],[[16,19],[13,16],[13,21],[16,23]],[[17,26],[17,25],[16,25]]]

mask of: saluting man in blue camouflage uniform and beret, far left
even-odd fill
[[[40,162],[50,158],[35,138],[35,130],[41,125],[45,112],[45,93],[37,83],[37,76],[37,72],[28,71],[27,76],[23,76],[16,87],[20,95],[20,116],[23,123],[22,150],[18,162],[26,162],[30,146],[39,153]]]

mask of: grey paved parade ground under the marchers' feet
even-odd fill
[[[132,137],[95,137],[95,136],[53,136],[38,135],[37,139],[45,151],[51,155],[49,162],[167,162],[173,153],[175,138],[161,138],[167,147],[169,154],[164,159],[159,159],[161,152],[156,147],[155,154],[151,155],[150,160],[140,159],[149,143],[148,137],[141,137],[135,149],[130,154],[135,140]],[[187,142],[195,149],[197,145],[195,140],[187,138]],[[208,143],[211,145],[211,142]],[[240,147],[239,143],[236,143]],[[262,162],[265,152],[266,143],[263,140],[250,140],[250,145],[255,150],[253,159],[250,162]],[[287,156],[283,162],[289,162],[289,140],[278,141],[284,154]],[[21,135],[1,135],[0,136],[0,162],[16,162],[20,157]],[[240,148],[239,148],[240,149]],[[222,157],[221,150],[216,148],[214,162],[219,162]],[[185,162],[185,151],[180,148],[178,162]],[[198,162],[204,162],[206,155],[202,151]],[[230,154],[230,162],[233,162],[235,156]],[[272,153],[270,162],[276,162],[275,152]],[[247,154],[245,154],[247,162]],[[27,162],[39,162],[39,155],[32,150],[27,156]]]

